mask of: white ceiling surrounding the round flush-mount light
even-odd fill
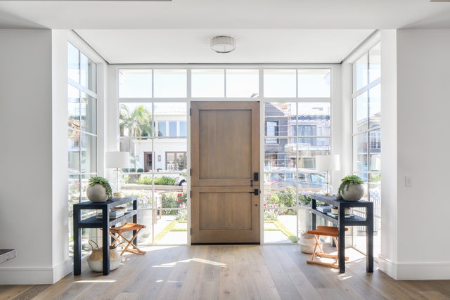
[[[450,28],[450,3],[0,0],[0,28],[75,30],[108,63],[340,63],[374,30]],[[218,35],[236,50],[212,51]]]

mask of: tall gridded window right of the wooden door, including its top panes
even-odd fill
[[[311,229],[311,193],[330,154],[331,70],[264,70],[264,242],[297,242]],[[320,221],[320,220],[319,220]],[[301,232],[301,231],[300,231]]]

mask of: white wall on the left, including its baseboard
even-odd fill
[[[17,249],[0,265],[2,284],[53,283],[70,268],[62,39],[51,30],[0,30],[0,247]]]

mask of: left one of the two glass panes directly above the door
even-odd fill
[[[225,97],[225,70],[192,70],[192,97]]]

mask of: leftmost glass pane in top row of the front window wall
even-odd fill
[[[152,70],[119,70],[120,98],[151,98]]]

